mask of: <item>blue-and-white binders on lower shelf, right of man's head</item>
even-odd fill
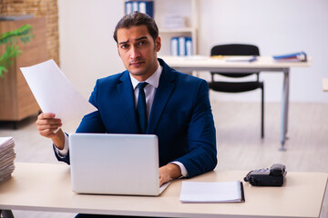
[[[170,41],[170,50],[172,56],[190,56],[192,55],[191,37],[172,37]]]

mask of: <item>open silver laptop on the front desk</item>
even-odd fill
[[[153,134],[69,134],[75,193],[159,195],[158,138]]]

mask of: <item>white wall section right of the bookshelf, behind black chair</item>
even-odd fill
[[[328,1],[200,0],[199,38],[200,54],[209,54],[212,45],[238,42],[258,45],[262,55],[303,50],[313,64],[292,68],[290,100],[328,102],[322,89],[322,78],[328,77]],[[280,101],[282,74],[261,74],[261,79],[266,101]],[[215,96],[259,101],[258,92]]]

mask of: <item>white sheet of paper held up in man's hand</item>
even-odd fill
[[[56,114],[63,124],[97,111],[94,105],[77,93],[54,60],[20,69],[41,110]]]

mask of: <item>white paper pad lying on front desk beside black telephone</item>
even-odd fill
[[[181,203],[245,202],[243,186],[234,182],[182,182]]]

